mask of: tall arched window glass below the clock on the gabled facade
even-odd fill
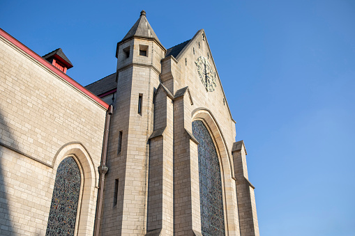
[[[192,134],[199,141],[199,200],[202,235],[225,235],[222,182],[216,147],[201,120],[192,122]]]

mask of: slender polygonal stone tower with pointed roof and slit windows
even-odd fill
[[[117,96],[107,155],[103,235],[112,230],[139,235],[146,230],[153,90],[159,86],[165,52],[144,10],[117,43]]]

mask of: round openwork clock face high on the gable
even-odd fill
[[[216,89],[216,72],[204,56],[200,56],[195,61],[197,72],[199,72],[199,79],[206,88],[206,91],[213,92]]]

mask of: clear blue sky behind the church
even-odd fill
[[[262,236],[355,235],[355,1],[0,1],[0,27],[61,47],[82,85],[146,17],[172,47],[205,29],[248,151]]]

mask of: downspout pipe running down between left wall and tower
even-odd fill
[[[107,143],[109,138],[109,121],[111,120],[111,115],[113,112],[114,107],[109,105],[109,108],[106,111],[105,131],[103,133],[103,152],[101,152],[101,162],[100,166],[98,166],[100,181],[98,183],[98,202],[96,204],[95,228],[93,229],[94,236],[98,236],[100,234],[101,212],[103,208],[103,187],[105,186],[105,174],[109,170],[109,168],[106,166]]]

